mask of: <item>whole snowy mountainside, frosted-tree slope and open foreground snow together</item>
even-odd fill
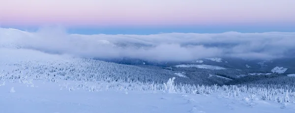
[[[168,71],[25,49],[1,48],[0,55],[0,113],[295,111],[295,93],[282,88],[175,84]]]

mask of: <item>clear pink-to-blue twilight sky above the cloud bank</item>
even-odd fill
[[[0,27],[80,34],[293,32],[295,0],[1,0]]]

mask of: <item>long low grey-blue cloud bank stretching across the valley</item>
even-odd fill
[[[67,34],[64,28],[36,32],[0,28],[0,46],[89,58],[185,61],[205,57],[292,57],[295,33],[162,33],[152,35]],[[288,56],[287,56],[288,55]]]

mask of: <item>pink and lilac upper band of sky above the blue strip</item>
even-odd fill
[[[1,0],[0,26],[295,23],[295,0]]]

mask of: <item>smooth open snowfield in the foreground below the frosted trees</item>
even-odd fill
[[[294,104],[160,91],[61,89],[62,81],[33,81],[34,87],[6,82],[0,86],[0,113],[294,113]],[[14,87],[15,92],[9,90]],[[60,90],[61,89],[61,90]],[[281,109],[284,106],[284,109]]]

